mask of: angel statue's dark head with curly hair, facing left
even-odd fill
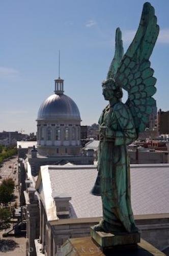
[[[122,88],[117,86],[117,83],[113,78],[109,78],[102,82],[102,90],[105,100],[112,100],[113,98],[121,99],[123,97]]]

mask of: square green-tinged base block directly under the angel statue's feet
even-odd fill
[[[121,245],[136,247],[137,243],[140,242],[139,233],[115,235],[112,233],[94,231],[93,227],[91,227],[91,237],[102,249]]]

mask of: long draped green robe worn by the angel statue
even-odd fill
[[[98,154],[104,226],[114,233],[136,232],[126,148],[137,137],[131,112],[122,102],[108,105],[100,116],[99,124],[107,126],[100,139]]]

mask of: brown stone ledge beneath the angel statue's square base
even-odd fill
[[[143,239],[137,247],[128,245],[114,246],[104,252],[91,237],[68,239],[57,256],[164,256],[165,254],[156,249]]]

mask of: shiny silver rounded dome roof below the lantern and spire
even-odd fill
[[[76,120],[80,121],[80,113],[76,103],[65,94],[53,94],[40,106],[37,120]]]

